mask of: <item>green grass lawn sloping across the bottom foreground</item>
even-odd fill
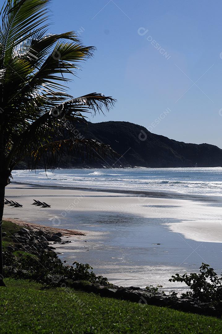
[[[6,279],[0,333],[222,333],[222,321],[67,288]]]

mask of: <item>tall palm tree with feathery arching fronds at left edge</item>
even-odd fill
[[[73,98],[67,93],[70,74],[95,48],[82,45],[73,31],[48,34],[49,4],[50,0],[6,0],[0,12],[1,223],[5,187],[21,160],[26,159],[28,169],[48,169],[64,154],[104,154],[109,149],[72,131],[70,124],[86,122],[86,113],[109,111],[115,100],[103,94]],[[1,224],[0,238],[4,285]]]

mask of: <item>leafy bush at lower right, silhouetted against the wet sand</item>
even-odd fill
[[[176,274],[169,281],[184,282],[190,287],[190,291],[183,293],[182,297],[192,297],[201,302],[212,302],[222,305],[222,278],[218,278],[214,269],[210,268],[206,263],[202,263],[200,274]]]

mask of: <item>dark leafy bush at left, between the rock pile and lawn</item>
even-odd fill
[[[108,285],[108,280],[96,276],[88,264],[74,262],[73,266],[64,265],[56,253],[43,253],[38,257],[26,252],[3,252],[4,276],[35,280],[46,286],[72,285],[85,280],[93,284]]]

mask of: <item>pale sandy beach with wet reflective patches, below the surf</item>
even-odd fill
[[[167,291],[185,288],[169,283],[171,275],[197,271],[202,262],[221,271],[217,198],[168,199],[16,183],[7,186],[5,197],[23,204],[6,205],[5,219],[68,229],[73,242],[58,245],[60,257],[89,263],[112,283],[161,284]],[[33,199],[51,208],[31,205]]]

